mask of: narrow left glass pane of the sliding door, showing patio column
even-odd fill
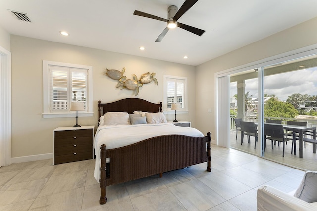
[[[258,68],[230,75],[230,147],[258,155],[260,142],[258,134],[251,130],[251,135],[241,134],[244,122],[257,130],[258,122]],[[251,128],[252,129],[252,128]]]

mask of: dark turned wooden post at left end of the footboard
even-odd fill
[[[107,202],[106,196],[106,145],[103,144],[100,147],[100,204],[105,204]]]

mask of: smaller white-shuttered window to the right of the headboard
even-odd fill
[[[180,111],[187,111],[187,78],[164,75],[164,109],[168,111],[172,103],[179,103]]]

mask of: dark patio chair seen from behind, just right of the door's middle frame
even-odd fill
[[[271,125],[264,123],[264,137],[272,141],[272,149],[274,149],[273,141],[283,142],[283,157],[285,151],[285,142],[293,140],[293,138],[287,138],[289,133],[284,133],[282,125]]]

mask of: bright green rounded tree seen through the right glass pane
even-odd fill
[[[264,116],[266,117],[295,118],[296,115],[298,115],[298,111],[292,104],[279,101],[276,98],[267,100],[264,105]]]

